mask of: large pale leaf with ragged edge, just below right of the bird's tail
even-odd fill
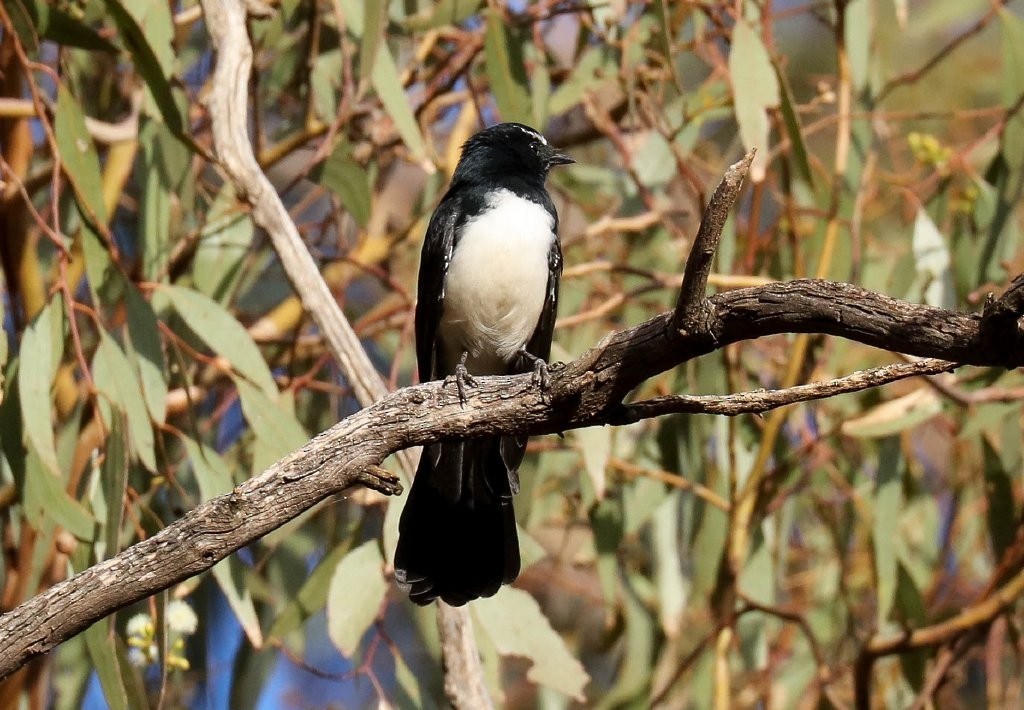
[[[502,656],[519,656],[530,662],[527,679],[583,702],[590,676],[551,628],[532,596],[521,589],[502,587],[494,596],[474,601],[472,612]]]

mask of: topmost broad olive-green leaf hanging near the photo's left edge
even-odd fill
[[[106,226],[106,208],[99,158],[78,101],[62,82],[57,87],[53,132],[60,151],[60,165],[75,192],[75,199],[89,222],[102,232]]]

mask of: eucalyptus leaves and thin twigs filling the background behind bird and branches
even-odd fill
[[[209,158],[199,6],[5,0],[0,20],[7,610],[354,401]],[[250,31],[261,164],[392,386],[414,376],[425,220],[498,120],[579,161],[550,182],[556,359],[671,307],[707,196],[750,147],[716,288],[817,276],[978,309],[1024,270],[1019,2],[283,0]],[[643,393],[898,358],[773,337]],[[534,441],[526,568],[473,605],[496,697],[1020,706],[1022,402],[1019,372],[973,369]],[[441,702],[433,613],[389,576],[399,505],[318,506],[34,662],[0,707]]]

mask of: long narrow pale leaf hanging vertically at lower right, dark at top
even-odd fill
[[[874,575],[878,579],[878,621],[884,626],[896,599],[896,545],[893,531],[899,517],[903,492],[900,474],[903,456],[895,436],[879,443],[879,468],[874,481],[874,508],[871,517],[874,547]]]

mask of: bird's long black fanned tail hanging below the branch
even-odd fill
[[[519,575],[512,495],[520,448],[481,438],[424,449],[394,555],[395,579],[413,601],[458,607]]]

